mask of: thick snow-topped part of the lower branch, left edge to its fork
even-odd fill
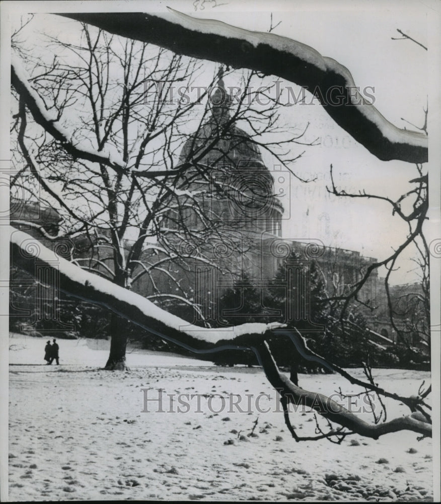
[[[225,329],[205,329],[194,326],[163,310],[143,296],[110,280],[98,277],[75,264],[56,256],[37,239],[11,227],[12,261],[17,266],[35,273],[35,261],[50,269],[56,269],[60,278],[60,290],[68,295],[101,304],[131,320],[147,331],[176,342],[195,352],[208,352],[235,348],[243,344],[249,348],[253,337],[263,336],[281,324],[250,323]],[[248,341],[248,344],[247,344]]]

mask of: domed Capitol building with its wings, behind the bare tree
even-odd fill
[[[274,314],[273,321],[304,324],[314,317],[309,313],[313,265],[327,297],[333,297],[350,292],[377,260],[363,257],[356,250],[327,246],[319,239],[283,237],[283,219],[296,219],[296,215],[289,215],[289,209],[286,213],[284,209],[289,205],[284,193],[285,172],[277,165],[268,168],[257,142],[233,122],[231,99],[221,72],[206,119],[188,136],[181,150],[179,163],[191,165],[185,174],[186,190],[171,198],[161,212],[157,221],[159,247],[147,246],[142,253],[145,264],[161,266],[152,268],[149,275],[137,275],[135,270],[134,277],[139,280],[131,288],[200,326],[222,326],[218,300],[228,290],[234,288],[241,293],[234,311],[247,316],[243,312],[247,287],[252,285],[262,293],[265,289],[282,289],[287,303],[280,310],[284,319]],[[209,148],[204,150],[206,146]],[[203,157],[191,158],[201,150],[205,152]],[[53,234],[57,234],[61,221],[51,207],[12,200],[11,221],[15,218],[32,221]],[[36,228],[26,230],[38,235]],[[44,236],[37,237],[44,241]],[[83,248],[79,257],[86,258],[90,251],[82,247],[81,241],[82,237],[77,236],[75,248]],[[280,271],[285,272],[284,278],[280,278]],[[357,294],[361,301],[357,310],[377,344],[389,346],[396,343],[397,335],[388,316],[382,283],[374,269]],[[410,288],[418,286],[391,287],[391,296],[402,296]],[[184,296],[186,311],[181,309]],[[164,299],[168,304],[164,305]],[[263,314],[267,320],[268,310],[262,305],[262,321]],[[254,313],[253,317],[259,322],[258,315]]]

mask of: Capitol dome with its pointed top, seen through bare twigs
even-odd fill
[[[193,189],[210,184],[224,225],[240,223],[249,233],[280,236],[283,207],[274,194],[274,178],[258,145],[234,124],[231,106],[221,69],[210,95],[209,118],[183,145],[179,164],[192,165],[188,173],[195,180]]]

